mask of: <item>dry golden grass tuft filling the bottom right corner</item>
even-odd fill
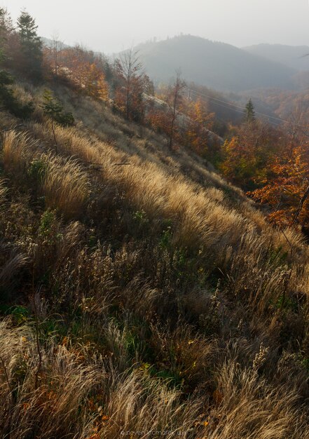
[[[207,438],[286,439],[308,438],[306,419],[298,411],[296,389],[271,386],[259,376],[263,352],[251,367],[229,361],[218,372],[214,408]]]

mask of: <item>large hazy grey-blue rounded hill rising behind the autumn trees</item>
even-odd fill
[[[291,88],[295,73],[294,69],[245,50],[197,36],[177,36],[137,49],[146,71],[156,81],[169,81],[180,68],[188,81],[236,92],[261,87]]]

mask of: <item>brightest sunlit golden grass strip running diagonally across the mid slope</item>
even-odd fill
[[[48,126],[32,124],[32,132],[44,142],[53,142]],[[220,242],[235,245],[249,229],[267,224],[249,208],[244,214],[217,200],[209,190],[188,182],[184,177],[169,175],[155,163],[142,161],[137,156],[126,156],[111,144],[103,144],[78,134],[74,128],[56,129],[57,142],[63,154],[78,156],[85,164],[102,166],[102,182],[112,184],[125,193],[136,210],[144,210],[147,217],[172,219],[178,227],[175,240],[182,245],[219,245]],[[118,163],[130,162],[130,166]],[[141,184],[142,182],[142,184]],[[249,205],[249,202],[248,202]],[[250,222],[251,219],[251,222]],[[255,224],[258,219],[259,224]],[[284,236],[277,234],[278,245],[289,247]],[[292,244],[298,246],[298,242]],[[298,238],[296,238],[297,240]],[[285,241],[285,242],[284,242]]]

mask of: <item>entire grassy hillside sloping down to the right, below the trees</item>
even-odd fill
[[[54,93],[76,126],[32,86],[32,120],[0,114],[0,435],[309,438],[303,237],[201,158]]]

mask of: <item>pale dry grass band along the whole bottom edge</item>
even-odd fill
[[[259,377],[267,349],[256,352],[250,367],[233,358],[223,363],[211,396],[193,394],[181,401],[181,392],[168,389],[147,370],[120,373],[111,366],[107,370],[90,349],[74,348],[68,339],[40,346],[39,366],[36,335],[30,327],[12,327],[10,320],[4,320],[0,335],[4,437],[115,439],[137,438],[143,432],[142,437],[159,438],[164,432],[167,438],[308,438],[293,382],[286,391],[283,385],[270,386]],[[190,342],[195,355],[202,349],[196,338],[178,339],[175,332],[173,340]],[[173,342],[165,339],[165,343]],[[183,360],[191,355],[186,349],[183,353]],[[202,353],[207,358],[210,352]],[[118,353],[119,358],[123,354]]]

